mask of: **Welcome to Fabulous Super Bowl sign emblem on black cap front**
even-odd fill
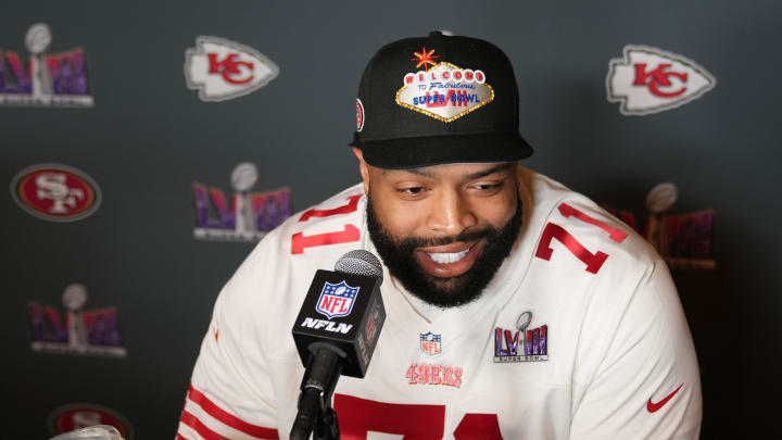
[[[450,123],[494,99],[494,89],[487,83],[483,71],[462,68],[445,61],[436,63],[440,55],[426,48],[414,55],[416,67],[422,66],[425,71],[411,72],[402,78],[396,103],[403,108]]]

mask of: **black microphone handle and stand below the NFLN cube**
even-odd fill
[[[339,440],[337,412],[331,407],[331,394],[342,373],[346,353],[339,348],[313,342],[307,347],[310,359],[299,394],[299,413],[291,428],[291,440]]]

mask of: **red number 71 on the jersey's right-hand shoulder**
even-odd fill
[[[597,226],[598,228],[605,230],[609,234],[609,238],[617,243],[621,243],[627,238],[627,234],[623,231],[615,229],[598,219],[592,218],[567,203],[562,203],[557,208],[559,213],[565,217],[573,216],[581,222],[589,223],[590,225]],[[596,274],[603,266],[603,263],[605,263],[606,259],[608,259],[608,254],[605,252],[590,252],[573,236],[571,236],[570,232],[565,230],[565,228],[551,222],[547,223],[543,229],[543,235],[541,236],[540,243],[538,243],[535,256],[545,261],[551,260],[552,253],[554,252],[554,249],[551,247],[551,241],[555,238],[560,243],[565,244],[565,247],[573,255],[576,255],[576,257],[586,264],[586,272],[589,273]]]

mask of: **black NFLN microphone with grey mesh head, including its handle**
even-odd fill
[[[380,260],[350,251],[335,271],[318,269],[293,324],[293,340],[306,367],[290,438],[339,438],[331,394],[340,375],[363,378],[375,352],[386,307]]]

